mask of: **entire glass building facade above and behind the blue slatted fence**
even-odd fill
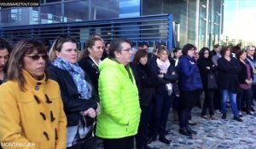
[[[222,33],[224,0],[41,0],[38,8],[2,8],[0,26],[25,26],[86,20],[172,14],[178,47],[212,47]],[[160,27],[160,32],[162,28]],[[120,29],[122,28],[120,25]],[[128,28],[131,31],[136,28]],[[158,32],[158,33],[160,33]],[[157,33],[157,32],[144,32]],[[117,34],[117,32],[115,32]],[[125,32],[119,32],[125,34]]]

